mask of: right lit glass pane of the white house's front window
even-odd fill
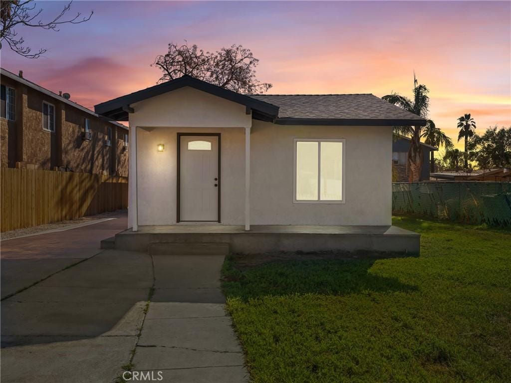
[[[342,199],[342,142],[321,142],[321,201]]]

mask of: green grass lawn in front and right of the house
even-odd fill
[[[225,262],[253,381],[511,381],[511,232],[397,217],[420,257]]]

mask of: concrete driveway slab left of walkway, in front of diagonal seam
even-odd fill
[[[151,257],[102,253],[2,301],[2,382],[112,382],[130,358]]]

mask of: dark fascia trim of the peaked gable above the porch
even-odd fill
[[[224,89],[219,86],[207,83],[205,81],[201,81],[195,79],[190,76],[183,76],[175,80],[167,81],[162,84],[154,85],[147,89],[142,89],[136,91],[134,93],[130,93],[124,95],[122,97],[118,97],[116,99],[106,101],[104,103],[98,104],[94,106],[96,113],[109,115],[109,114],[117,114],[119,117],[128,117],[128,113],[122,113],[122,108],[124,106],[147,100],[151,97],[155,97],[160,94],[164,94],[170,92],[172,90],[176,90],[185,86],[190,86],[192,88],[201,90],[206,93],[210,93],[216,95],[217,97],[223,98],[228,101],[235,102],[237,104],[245,105],[250,109],[260,111],[264,114],[268,114],[275,118],[278,115],[278,106],[269,104],[267,102],[253,99],[247,95],[240,94],[234,92],[232,90]],[[119,110],[120,109],[120,110]],[[117,113],[119,111],[119,113]],[[113,113],[112,113],[113,112]],[[125,114],[125,116],[124,116]],[[124,119],[119,119],[119,121],[127,121]]]

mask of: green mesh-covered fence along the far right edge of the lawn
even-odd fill
[[[511,225],[511,183],[392,183],[392,211],[508,226]]]

